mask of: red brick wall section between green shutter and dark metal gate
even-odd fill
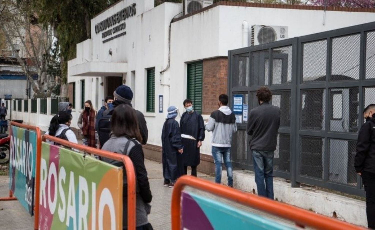
[[[228,91],[228,58],[203,60],[203,111],[211,114],[217,110],[220,94]]]

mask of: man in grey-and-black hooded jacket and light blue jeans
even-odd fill
[[[236,115],[228,107],[228,95],[219,96],[219,110],[211,113],[205,128],[212,133],[212,156],[215,163],[216,183],[221,183],[222,158],[228,175],[228,186],[233,187],[231,144],[233,133],[237,132]]]

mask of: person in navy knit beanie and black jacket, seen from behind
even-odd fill
[[[114,108],[116,108],[118,105],[121,105],[121,104],[129,105],[130,108],[132,108],[133,91],[130,89],[129,86],[123,85],[123,86],[117,87],[117,89],[113,93],[113,96],[114,96],[114,99],[115,99],[114,102],[113,102]],[[141,136],[142,136],[141,143],[147,144],[148,129],[147,129],[146,119],[144,118],[143,113],[141,113],[138,110],[135,110],[134,108],[132,108],[132,109],[135,111],[136,118],[138,120],[139,131],[141,132]],[[107,115],[112,115],[113,110],[114,109],[105,110],[104,113],[103,113],[103,117],[107,116]],[[99,129],[99,132],[100,132],[100,129]],[[101,143],[102,143],[102,141],[101,141]]]

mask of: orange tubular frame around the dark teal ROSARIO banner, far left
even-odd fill
[[[20,128],[33,130],[36,132],[36,168],[35,168],[35,201],[34,201],[34,229],[38,229],[39,223],[39,189],[40,189],[40,159],[42,156],[42,135],[40,134],[39,127],[24,125],[17,122],[10,123],[10,131],[12,132],[12,126],[17,126]],[[9,197],[2,197],[0,200],[17,200],[17,198],[13,197],[12,191],[9,190]]]

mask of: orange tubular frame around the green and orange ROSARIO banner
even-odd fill
[[[112,152],[87,147],[81,144],[74,144],[66,140],[62,140],[57,137],[52,137],[50,135],[43,135],[43,141],[50,140],[54,141],[55,143],[61,144],[66,147],[71,147],[72,149],[78,149],[84,152],[92,153],[98,156],[102,156],[105,158],[114,159],[115,161],[122,161],[125,165],[126,170],[126,178],[127,178],[127,229],[135,230],[136,222],[135,222],[135,171],[133,162],[130,160],[128,156],[115,154]],[[41,144],[41,143],[40,143]],[[39,194],[39,193],[38,193]]]

